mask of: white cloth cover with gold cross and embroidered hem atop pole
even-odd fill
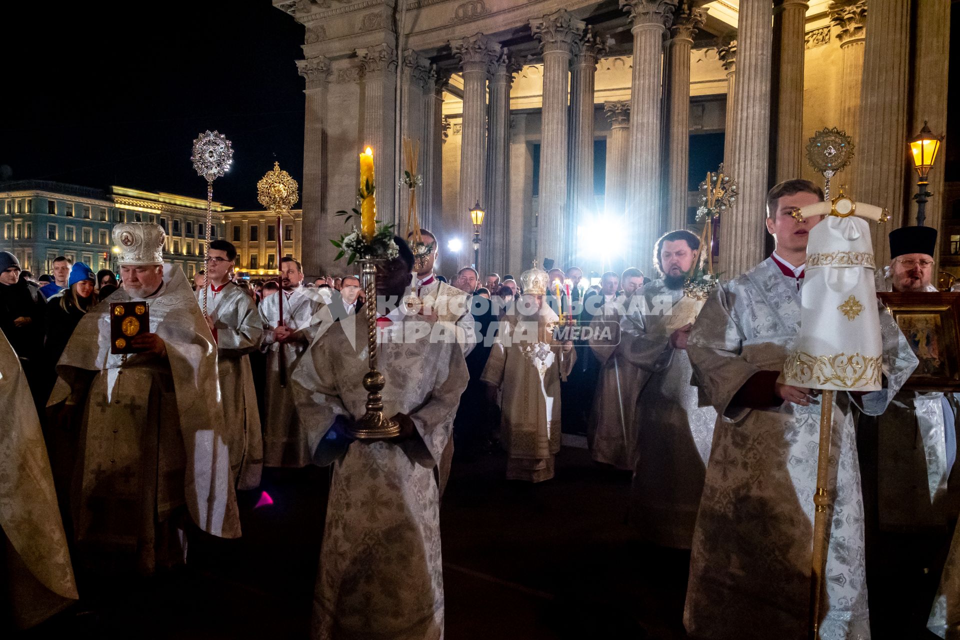
[[[781,382],[809,389],[881,389],[880,322],[874,249],[865,219],[885,221],[877,206],[843,195],[804,206],[795,216],[825,216],[810,229],[801,290],[800,335]]]

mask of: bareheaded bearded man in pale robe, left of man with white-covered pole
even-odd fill
[[[622,322],[624,359],[649,376],[636,398],[631,521],[654,544],[689,549],[707,474],[713,407],[701,407],[686,342],[702,307],[684,294],[700,239],[670,231],[654,249],[660,278],[643,285],[642,304]]]

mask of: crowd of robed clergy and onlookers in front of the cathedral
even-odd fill
[[[0,459],[19,469],[0,498],[33,505],[0,509],[0,525],[29,569],[11,580],[46,596],[14,607],[16,622],[75,599],[75,567],[152,574],[185,561],[193,531],[241,535],[237,490],[265,466],[315,464],[332,480],[314,637],[442,637],[451,466],[502,449],[509,481],[548,481],[563,430],[631,479],[641,539],[690,550],[691,636],[805,636],[821,407],[780,369],[820,222],[792,213],[823,197],[800,179],[771,190],[776,250],[706,302],[684,294],[704,257],[684,229],[657,241],[654,277],[630,268],[596,284],[536,265],[464,267],[447,283],[438,238],[420,229],[377,266],[375,300],[357,275],[310,282],[290,257],[276,280],[235,279],[223,240],[191,286],[147,223],[114,228],[119,282],[60,257],[41,287],[0,252],[0,439],[22,434]],[[930,291],[936,231],[904,227],[890,243],[879,286]],[[110,303],[149,306],[132,352],[111,348]],[[356,432],[370,305],[388,439]],[[887,311],[868,313],[883,389],[837,393],[821,637],[943,636],[960,624],[957,398],[903,391],[917,358]]]

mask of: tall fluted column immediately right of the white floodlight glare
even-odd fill
[[[660,56],[663,34],[676,6],[676,0],[620,0],[620,8],[630,13],[634,35],[625,207],[634,233],[627,259],[643,272],[654,266],[654,243],[660,231]]]

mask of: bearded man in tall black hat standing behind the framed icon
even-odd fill
[[[930,280],[937,230],[903,226],[891,231],[889,240],[889,289],[936,292]],[[863,416],[857,424],[871,623],[893,636],[924,633],[940,581],[960,493],[960,477],[950,475],[957,453],[956,408],[955,393],[900,391],[882,415]]]

